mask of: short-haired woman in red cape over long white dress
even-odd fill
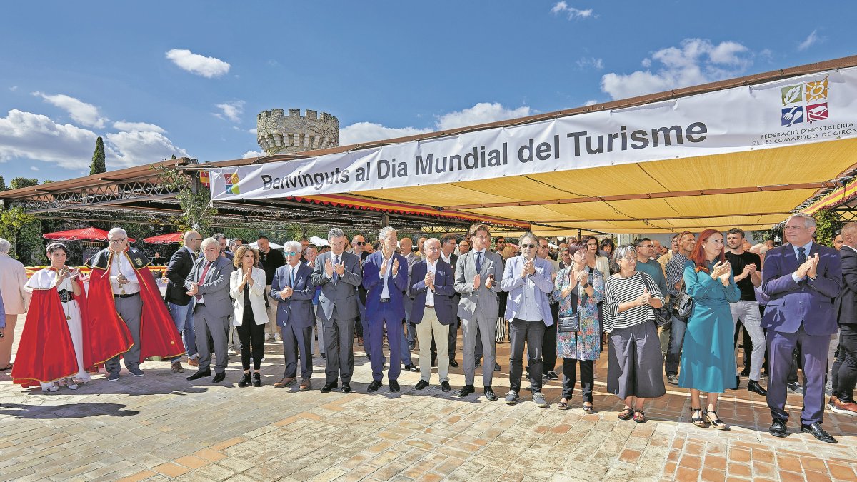
[[[131,336],[124,325],[113,329],[93,326],[79,273],[65,267],[65,246],[51,243],[47,251],[51,267],[39,270],[27,281],[33,303],[27,312],[12,379],[22,387],[39,383],[45,392],[57,391],[55,382],[64,379],[69,389],[77,389],[75,378],[83,383],[89,380],[84,367],[90,360],[127,351]]]

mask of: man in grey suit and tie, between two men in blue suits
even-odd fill
[[[357,310],[357,286],[363,283],[360,257],[345,252],[345,232],[334,227],[327,232],[331,250],[315,257],[315,270],[310,278],[321,286],[316,315],[321,318],[325,341],[325,384],[321,393],[337,387],[342,380],[342,393],[351,393],[354,372],[354,322]],[[366,334],[363,334],[368,338]],[[364,339],[365,339],[364,338]]]

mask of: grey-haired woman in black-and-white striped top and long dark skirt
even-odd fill
[[[661,342],[655,313],[663,307],[663,295],[655,280],[637,271],[637,250],[629,244],[616,249],[613,268],[604,287],[604,331],[610,345],[607,390],[625,401],[622,420],[645,422],[647,398],[667,393],[663,386]]]

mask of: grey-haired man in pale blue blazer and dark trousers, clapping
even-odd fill
[[[500,286],[509,292],[506,302],[506,319],[509,322],[509,342],[512,357],[509,359],[509,392],[506,403],[518,401],[524,363],[524,340],[530,358],[530,390],[537,407],[548,408],[542,395],[542,342],[545,328],[554,324],[548,293],[554,291],[554,267],[546,259],[536,256],[538,238],[526,232],[518,240],[521,256],[509,258]]]

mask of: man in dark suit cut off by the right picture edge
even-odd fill
[[[833,395],[828,407],[836,413],[857,415],[854,385],[857,383],[857,222],[842,226],[842,289],[833,302],[839,324],[839,352],[830,371]]]

